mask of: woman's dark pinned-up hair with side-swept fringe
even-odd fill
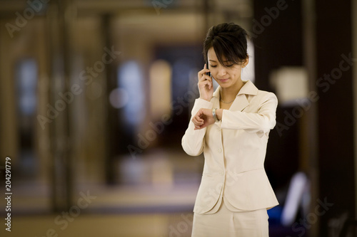
[[[208,49],[213,47],[218,61],[222,65],[226,65],[223,60],[235,64],[243,63],[248,58],[246,38],[246,31],[235,23],[221,23],[212,26],[203,42],[205,62],[208,63]]]

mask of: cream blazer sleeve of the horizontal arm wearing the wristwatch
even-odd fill
[[[268,132],[276,125],[278,99],[273,93],[266,93],[258,105],[258,112],[223,110],[221,128]]]

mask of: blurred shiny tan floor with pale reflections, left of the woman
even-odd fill
[[[79,191],[69,211],[58,214],[47,214],[46,199],[14,198],[6,236],[190,236],[197,188],[91,186]]]

